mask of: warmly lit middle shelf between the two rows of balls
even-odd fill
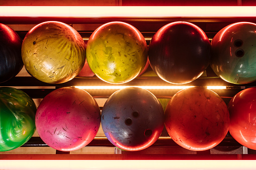
[[[118,86],[117,89],[84,89],[93,97],[108,98],[120,87],[127,86],[227,86],[227,89],[213,89],[222,98],[232,98],[239,91],[245,87],[256,86],[256,82],[246,85],[231,84],[223,81],[219,77],[205,77],[198,78],[195,81],[187,84],[171,84],[163,81],[159,77],[137,77],[134,80],[124,84],[110,84],[102,81],[98,77],[75,77],[74,79],[62,84],[49,84],[37,80],[34,77],[14,77],[13,79],[0,83],[0,86],[9,86],[23,90],[32,98],[44,98],[48,93],[55,90],[55,88],[70,87],[70,86]],[[27,88],[30,86],[31,88]],[[25,87],[25,88],[24,88]],[[38,87],[38,88],[37,88]],[[45,87],[45,88],[43,88]],[[50,88],[49,88],[50,87]],[[55,88],[54,88],[55,87]],[[181,89],[148,89],[157,98],[170,98]]]

